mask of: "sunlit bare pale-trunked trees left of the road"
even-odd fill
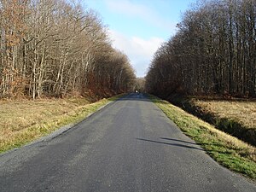
[[[114,94],[136,77],[91,10],[67,0],[0,0],[0,98]]]

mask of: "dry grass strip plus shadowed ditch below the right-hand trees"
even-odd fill
[[[219,130],[256,146],[255,101],[181,97],[172,102]]]

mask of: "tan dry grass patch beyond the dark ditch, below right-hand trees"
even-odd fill
[[[206,113],[218,118],[234,119],[248,129],[256,129],[256,102],[193,100]]]

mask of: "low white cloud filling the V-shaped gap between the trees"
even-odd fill
[[[120,32],[113,30],[110,30],[109,34],[113,40],[113,47],[123,51],[129,57],[138,77],[145,75],[154,52],[164,42],[164,39],[157,37],[148,39],[125,37]]]

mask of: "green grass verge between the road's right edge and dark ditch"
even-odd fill
[[[256,148],[186,113],[169,102],[152,97],[153,102],[189,137],[200,144],[219,164],[256,179]]]

